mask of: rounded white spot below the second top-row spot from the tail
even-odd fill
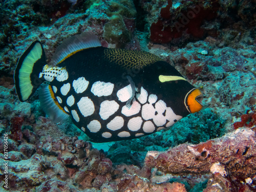
[[[87,117],[94,113],[93,101],[88,97],[82,97],[80,101],[77,102],[77,106],[84,117]]]

